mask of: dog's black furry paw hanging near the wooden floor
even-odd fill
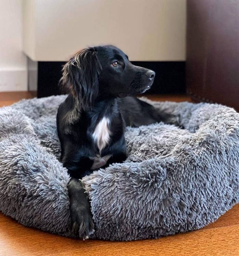
[[[89,207],[72,207],[71,223],[72,231],[75,234],[79,233],[80,238],[83,240],[88,239],[95,232],[92,213]]]

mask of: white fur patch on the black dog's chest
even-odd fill
[[[97,142],[97,146],[100,150],[106,147],[110,142],[110,130],[109,130],[110,120],[106,117],[103,117],[100,122],[96,125],[95,131],[93,133],[93,138]]]

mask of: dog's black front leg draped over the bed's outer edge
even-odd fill
[[[71,178],[68,184],[70,199],[70,215],[72,229],[83,240],[88,239],[94,232],[94,222],[90,211],[90,203],[85,193],[82,182],[79,179]]]

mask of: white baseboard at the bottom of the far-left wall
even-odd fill
[[[0,69],[0,92],[27,90],[27,69]]]

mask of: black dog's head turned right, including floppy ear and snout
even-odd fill
[[[114,46],[98,46],[79,51],[62,69],[61,84],[78,97],[84,110],[96,98],[125,97],[144,93],[155,73],[133,65],[128,56]]]

